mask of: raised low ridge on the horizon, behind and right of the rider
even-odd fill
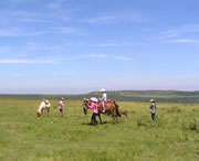
[[[90,95],[100,96],[98,92]],[[143,101],[148,103],[154,98],[159,103],[199,103],[199,92],[179,92],[179,90],[118,90],[107,92],[108,98],[124,101]]]

